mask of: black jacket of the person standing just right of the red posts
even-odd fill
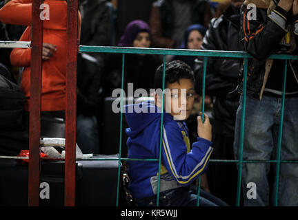
[[[107,1],[87,0],[80,3],[82,14],[80,45],[110,45],[112,14]],[[99,113],[102,98],[104,55],[85,54],[89,56],[79,54],[77,63],[77,113],[96,115]]]

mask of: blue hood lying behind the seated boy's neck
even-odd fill
[[[135,137],[157,118],[161,118],[161,109],[150,102],[126,105],[124,111],[129,126],[126,133],[129,137]],[[165,117],[166,115],[172,117],[168,113],[164,113]]]

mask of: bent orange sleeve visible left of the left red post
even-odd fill
[[[26,28],[19,41],[30,41],[31,28]],[[14,48],[10,54],[10,62],[15,67],[28,67],[31,61],[31,48]]]

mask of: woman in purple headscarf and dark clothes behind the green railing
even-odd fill
[[[151,31],[149,25],[135,20],[126,26],[126,30],[118,43],[119,47],[150,47]],[[153,88],[155,70],[161,64],[159,58],[152,54],[126,54],[124,64],[124,90],[128,83],[133,83],[133,90]],[[105,96],[111,96],[112,90],[121,88],[121,54],[109,56],[106,63]],[[128,96],[126,92],[126,96]]]

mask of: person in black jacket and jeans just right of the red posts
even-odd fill
[[[79,1],[80,45],[107,46],[112,38],[112,14],[107,1]],[[103,54],[81,53],[77,63],[77,144],[83,153],[99,153]]]

